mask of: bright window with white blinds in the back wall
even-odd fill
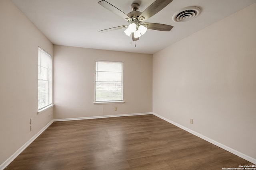
[[[123,63],[95,61],[95,102],[123,102]]]

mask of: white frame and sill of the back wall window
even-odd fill
[[[108,100],[108,101],[96,101],[96,64],[97,62],[107,62],[107,63],[120,63],[122,64],[122,100]],[[124,62],[122,61],[105,61],[105,60],[95,60],[94,61],[94,105],[96,104],[122,104],[124,103]]]

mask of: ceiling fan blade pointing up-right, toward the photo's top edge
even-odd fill
[[[161,11],[164,7],[170,4],[172,0],[156,0],[153,2],[146,10],[140,14],[138,20],[139,21],[146,21],[148,18],[154,16],[156,13]]]

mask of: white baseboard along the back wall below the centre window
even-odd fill
[[[130,114],[122,114],[122,115],[104,115],[104,116],[92,116],[92,117],[77,117],[77,118],[67,118],[67,119],[54,119],[53,121],[72,121],[72,120],[100,119],[100,118],[108,118],[108,117],[138,116],[138,115],[152,115],[152,112],[147,112],[147,113],[130,113]]]

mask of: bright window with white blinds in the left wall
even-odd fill
[[[38,48],[38,110],[52,104],[52,57]]]

